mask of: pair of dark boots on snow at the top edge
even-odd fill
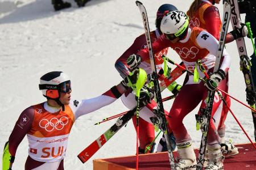
[[[77,3],[77,6],[84,7],[85,3],[87,3],[90,0],[75,0]],[[64,2],[63,0],[52,0],[52,5],[55,11],[63,10],[65,8],[71,7],[71,3]]]

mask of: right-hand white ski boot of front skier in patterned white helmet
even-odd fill
[[[224,156],[222,156],[221,147],[220,145],[210,146],[207,145],[208,148],[208,156],[209,156],[209,163],[205,170],[220,170],[224,169]]]

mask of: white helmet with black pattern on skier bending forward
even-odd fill
[[[168,12],[162,19],[160,29],[164,34],[180,36],[188,28],[188,16],[179,10]]]

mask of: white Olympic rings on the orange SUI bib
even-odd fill
[[[65,125],[68,124],[68,118],[66,116],[61,117],[60,119],[53,117],[51,120],[42,119],[39,122],[40,128],[45,129],[46,131],[62,130]]]

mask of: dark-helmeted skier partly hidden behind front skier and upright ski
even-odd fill
[[[177,10],[177,8],[171,4],[163,4],[158,8],[158,11],[156,12],[156,20],[155,20],[155,25],[156,25],[156,29],[155,31],[151,31],[150,32],[150,36],[151,36],[151,40],[155,41],[160,35],[162,35],[162,32],[160,31],[160,23],[162,21],[163,15],[165,14],[165,12],[169,12],[169,11],[173,11],[173,10]],[[137,65],[139,65],[139,67],[141,67],[142,69],[148,72],[147,66],[150,65],[148,62],[144,61],[141,63],[141,61],[139,60],[140,58],[135,56],[135,55],[131,55],[134,53],[137,53],[139,50],[146,48],[147,46],[147,42],[146,42],[146,37],[145,34],[142,34],[140,36],[138,36],[133,44],[122,54],[121,57],[119,57],[117,59],[117,61],[115,62],[115,68],[117,69],[117,71],[119,72],[119,74],[124,78],[125,76],[129,75],[130,71],[128,68],[129,67],[137,67]],[[159,53],[155,54],[155,59],[156,59],[156,67],[158,68],[158,71],[162,69],[162,63],[163,63],[163,59],[162,59],[162,55],[163,54],[167,54],[168,52],[168,48],[165,48],[163,50],[161,50]],[[130,56],[130,57],[129,57]],[[129,59],[128,59],[129,58]],[[129,61],[127,63],[127,61]],[[162,71],[163,72],[163,71]],[[181,86],[179,84],[177,84],[176,82],[173,82],[172,84],[170,84],[170,86],[167,87],[170,91],[172,91],[172,93],[174,95],[177,95],[178,91],[180,90]],[[136,105],[136,101],[134,100],[135,96],[134,94],[124,94],[121,97],[121,100],[123,102],[123,104],[126,105],[127,108],[131,109],[134,108]],[[149,107],[147,105],[147,107]],[[152,108],[151,108],[152,110]],[[140,114],[147,114],[148,112],[151,112],[148,108],[143,108],[140,111]],[[150,121],[150,120],[148,120]],[[133,124],[134,127],[136,128],[137,123],[136,123],[136,117],[133,117]],[[147,122],[145,120],[143,120],[143,118],[139,118],[139,153],[140,154],[144,154],[144,151],[146,150],[146,147],[148,147],[148,145],[150,145],[150,143],[154,140],[155,138],[155,128],[152,125],[152,122]],[[171,133],[171,141],[175,143],[175,139],[173,137],[173,134]],[[164,139],[164,137],[162,139],[160,139],[158,148],[157,148],[157,152],[161,152],[161,151],[167,151],[167,146],[166,146],[166,139]],[[148,150],[148,152],[153,152],[154,151],[154,145],[151,146],[150,150]],[[176,146],[173,146],[173,149]]]

